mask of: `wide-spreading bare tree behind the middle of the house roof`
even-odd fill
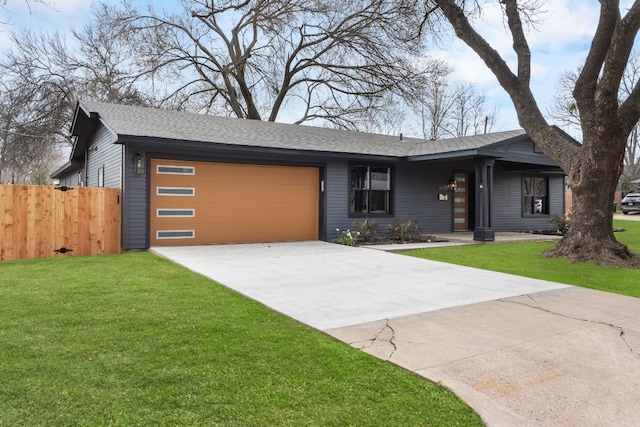
[[[112,8],[138,69],[176,82],[178,108],[353,128],[395,95],[411,98],[429,67],[397,2],[194,0],[184,12]]]

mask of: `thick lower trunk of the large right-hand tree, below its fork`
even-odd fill
[[[597,137],[594,137],[597,138]],[[622,138],[621,141],[617,139]],[[621,144],[624,136],[614,137],[609,144]],[[607,144],[607,145],[609,145]],[[567,257],[572,262],[593,261],[600,265],[640,267],[640,256],[618,242],[613,231],[613,200],[622,170],[619,155],[593,147],[602,146],[585,140],[581,157],[569,174],[573,191],[571,227],[558,244],[545,256]]]

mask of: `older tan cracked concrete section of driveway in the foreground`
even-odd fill
[[[327,331],[439,383],[488,426],[640,425],[640,304],[583,288]]]

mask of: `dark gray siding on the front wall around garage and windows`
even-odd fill
[[[522,147],[531,150],[530,147]],[[97,151],[100,152],[100,149]],[[528,151],[530,152],[530,151]],[[145,156],[147,173],[144,176],[133,174],[133,156],[140,153]],[[261,164],[290,164],[298,166],[317,166],[324,172],[324,192],[321,193],[321,230],[320,237],[335,240],[336,229],[353,229],[354,223],[361,222],[364,217],[349,215],[349,169],[350,162],[346,158],[335,156],[305,156],[266,154],[256,158],[255,154],[233,155],[221,154],[216,150],[183,150],[179,154],[170,147],[154,148],[153,144],[127,144],[124,160],[123,189],[123,238],[124,249],[146,249],[149,242],[149,161],[151,158],[175,158],[194,161],[222,161]],[[453,193],[448,200],[438,200],[443,193],[440,186],[448,183],[455,172],[471,175],[473,178],[474,162],[472,159],[457,161],[367,161],[358,163],[388,164],[393,168],[393,214],[371,215],[379,224],[379,232],[395,219],[405,221],[414,219],[422,227],[423,234],[449,233],[453,230]],[[496,162],[494,170],[493,216],[492,224],[497,231],[532,231],[550,229],[551,215],[523,217],[521,212],[521,171],[507,171],[504,163]],[[564,181],[560,176],[549,176],[551,214],[562,214],[564,211]],[[473,196],[472,196],[473,197]],[[474,207],[470,207],[473,221]]]

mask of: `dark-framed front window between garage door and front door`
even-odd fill
[[[351,165],[349,213],[391,213],[391,168]]]

